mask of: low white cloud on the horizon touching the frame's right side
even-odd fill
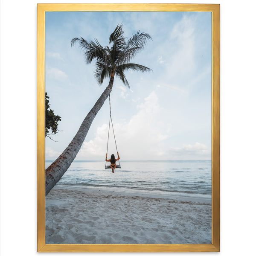
[[[171,160],[210,160],[210,149],[202,144],[196,142],[194,145],[182,145],[180,148],[169,148],[169,159]]]

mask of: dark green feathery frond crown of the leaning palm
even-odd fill
[[[94,76],[100,85],[105,78],[116,75],[125,86],[130,88],[124,74],[125,70],[151,71],[150,68],[143,65],[129,63],[138,52],[144,49],[147,40],[152,40],[151,36],[137,31],[131,38],[126,39],[123,36],[122,27],[122,24],[118,25],[110,35],[109,43],[113,43],[111,48],[108,46],[102,47],[97,39],[95,41],[87,41],[84,38],[73,38],[71,41],[71,46],[79,43],[79,47],[84,51],[84,58],[87,64],[90,64],[93,59],[96,60]]]

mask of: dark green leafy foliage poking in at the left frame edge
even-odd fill
[[[58,121],[61,121],[61,116],[55,115],[54,111],[50,109],[49,96],[47,96],[47,93],[45,93],[45,136],[46,137],[49,137],[50,135],[49,130],[52,130],[51,134],[56,134],[58,132]]]

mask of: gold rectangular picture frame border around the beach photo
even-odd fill
[[[220,250],[220,5],[219,4],[38,4],[37,6],[37,250],[38,252],[218,252]],[[212,13],[212,243],[45,243],[45,12]]]

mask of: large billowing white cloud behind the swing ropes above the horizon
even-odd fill
[[[117,148],[125,160],[157,160],[163,156],[161,144],[168,138],[165,125],[159,118],[161,109],[157,94],[153,91],[144,102],[137,105],[137,113],[128,122],[114,124]],[[112,127],[111,127],[112,129]],[[96,130],[93,140],[84,142],[78,159],[101,159],[105,157],[108,138],[108,125]],[[110,130],[108,154],[116,152],[113,132]]]

